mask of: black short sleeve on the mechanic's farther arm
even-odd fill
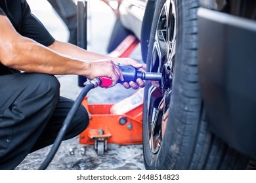
[[[1,10],[0,10],[1,12]],[[45,26],[31,13],[26,1],[22,3],[22,35],[29,37],[45,46],[53,44],[55,39],[51,36]]]

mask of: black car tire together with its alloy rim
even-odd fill
[[[144,89],[145,167],[245,169],[249,158],[211,133],[205,118],[197,65],[198,0],[171,1],[170,5],[166,2],[160,0],[156,5],[146,59],[147,71],[162,73],[165,79],[160,88],[146,83]],[[163,25],[166,19],[169,23]],[[176,31],[170,26],[175,26]],[[166,35],[165,54],[162,35]],[[166,77],[168,72],[171,74]]]

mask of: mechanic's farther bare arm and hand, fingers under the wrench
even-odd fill
[[[54,50],[58,53],[66,54],[68,56],[72,56],[72,57],[78,58],[78,59],[90,60],[92,62],[98,61],[100,59],[110,59],[110,60],[114,61],[114,63],[121,63],[121,65],[133,65],[133,67],[136,67],[141,70],[146,69],[146,67],[145,67],[146,65],[138,63],[134,59],[114,58],[114,57],[105,56],[102,54],[88,52],[87,50],[79,48],[78,46],[75,46],[74,44],[70,44],[68,42],[54,41],[53,44],[51,46],[49,46],[49,48],[51,48],[52,50]],[[121,76],[121,78],[122,78],[122,76]],[[132,81],[129,82],[129,84],[127,82],[123,83],[123,86],[125,88],[132,87],[135,89],[138,88],[139,86],[144,87],[144,85],[145,85],[145,83],[140,78],[137,79],[137,83],[132,82]]]

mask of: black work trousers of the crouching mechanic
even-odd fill
[[[0,76],[0,169],[14,169],[31,152],[53,144],[74,101],[60,97],[53,75],[18,73]],[[88,125],[81,105],[64,140]]]

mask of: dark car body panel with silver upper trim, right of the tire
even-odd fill
[[[198,67],[209,126],[256,158],[256,22],[198,10]]]

